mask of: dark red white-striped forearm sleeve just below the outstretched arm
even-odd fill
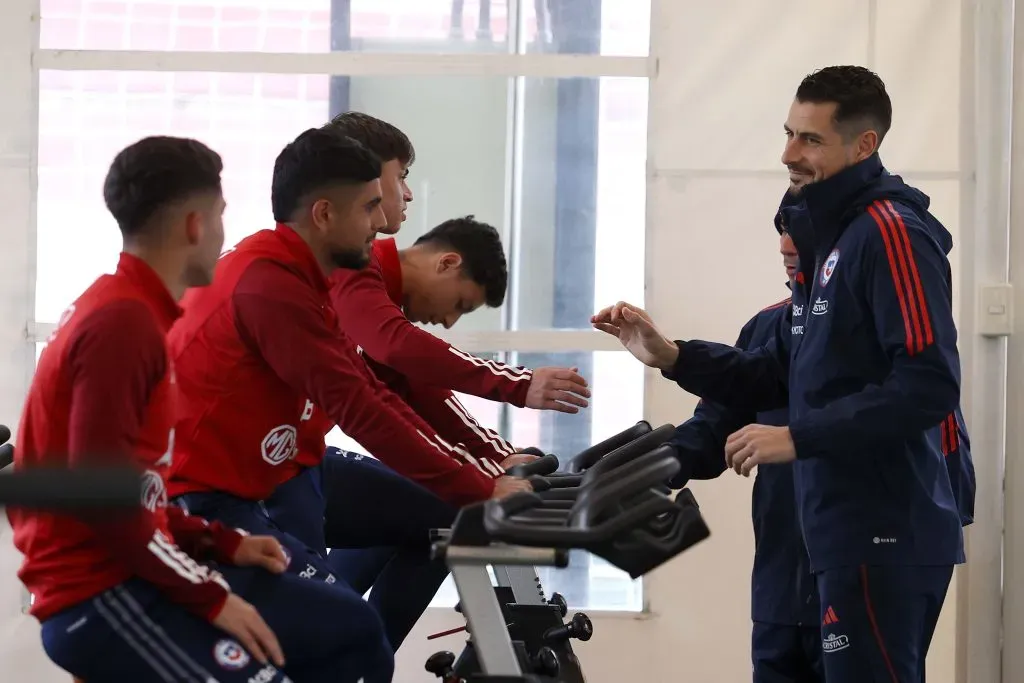
[[[501,476],[501,462],[515,449],[498,432],[476,421],[447,389],[433,384],[411,384],[409,405],[450,443],[465,450],[463,457],[490,476]]]

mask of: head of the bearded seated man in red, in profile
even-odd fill
[[[386,224],[380,173],[380,160],[355,140],[311,128],[273,166],[274,220],[295,228],[326,271],[364,268]]]

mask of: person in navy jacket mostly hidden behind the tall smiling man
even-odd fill
[[[793,239],[780,236],[779,249],[788,287],[799,273],[799,255]],[[785,298],[764,308],[739,332],[737,348],[754,350],[769,343],[780,326],[792,325],[792,300]],[[785,425],[788,411],[736,414],[701,400],[693,417],[676,428],[672,444],[682,465],[672,481],[681,488],[691,479],[713,479],[725,469],[728,435],[748,424]],[[930,432],[942,451],[953,496],[966,526],[974,520],[975,476],[970,440],[957,410]],[[751,573],[751,618],[754,629],[751,655],[754,683],[820,683],[820,624],[836,618],[835,610],[821,613],[814,574],[797,519],[793,466],[762,465],[754,481],[754,570]]]

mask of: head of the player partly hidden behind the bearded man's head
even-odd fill
[[[406,220],[406,209],[413,201],[409,188],[409,169],[416,161],[416,150],[409,136],[395,126],[361,112],[339,114],[325,128],[361,143],[380,158],[381,210],[387,224],[378,231],[395,234]]]

